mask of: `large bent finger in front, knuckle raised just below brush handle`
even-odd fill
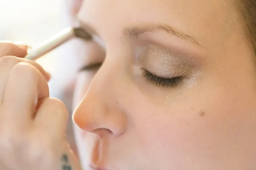
[[[38,99],[49,97],[48,84],[35,66],[26,63],[17,63],[10,72],[6,82],[0,116],[6,121],[26,125],[32,120]]]

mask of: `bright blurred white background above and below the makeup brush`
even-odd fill
[[[36,47],[60,31],[63,0],[0,0],[0,40],[23,41]],[[58,51],[58,50],[57,50]],[[54,72],[57,52],[38,59]]]

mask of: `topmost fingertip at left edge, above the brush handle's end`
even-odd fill
[[[16,56],[25,57],[29,46],[25,44],[15,44],[12,42],[0,42],[0,57]]]

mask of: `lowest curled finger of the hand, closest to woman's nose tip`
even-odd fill
[[[65,138],[69,113],[58,99],[45,99],[38,109],[34,125],[48,131],[52,138],[62,141]]]

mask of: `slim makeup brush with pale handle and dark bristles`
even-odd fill
[[[42,57],[44,54],[52,51],[58,46],[62,45],[64,42],[68,40],[79,37],[84,40],[91,40],[92,37],[83,28],[65,28],[64,30],[58,32],[53,37],[46,40],[42,45],[38,48],[31,49],[28,51],[28,54],[25,56],[26,59],[35,60]]]

